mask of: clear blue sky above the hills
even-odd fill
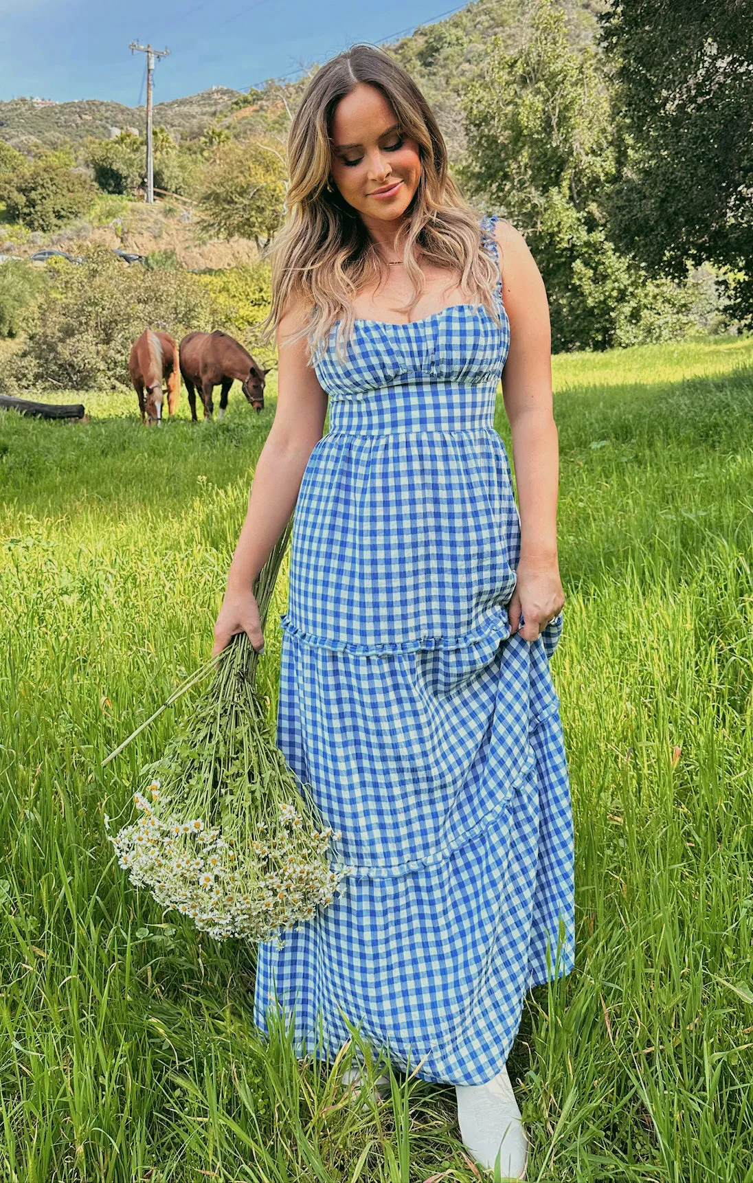
[[[208,86],[247,90],[353,41],[429,24],[452,0],[0,0],[0,98],[144,102],[143,53],[170,50],[154,71],[155,102]]]

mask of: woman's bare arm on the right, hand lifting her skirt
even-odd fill
[[[546,289],[523,235],[498,221],[502,298],[510,348],[502,374],[504,409],[513,432],[513,463],[521,522],[517,586],[510,602],[515,632],[535,640],[565,603],[556,551],[559,441],[552,413],[552,332]]]

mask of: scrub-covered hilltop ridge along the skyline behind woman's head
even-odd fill
[[[596,15],[605,7],[605,0],[562,0],[562,7],[573,45],[592,41]],[[385,49],[410,71],[431,103],[451,159],[457,160],[464,149],[459,102],[463,85],[483,69],[495,34],[503,38],[510,51],[522,44],[534,8],[535,0],[475,0],[444,20],[419,26],[410,37],[386,43]],[[215,86],[155,104],[154,121],[175,138],[199,136],[211,123],[229,127],[240,138],[284,135],[290,111],[297,106],[307,80],[308,73],[292,82],[270,78],[246,95]],[[142,130],[143,123],[143,106],[99,99],[41,104],[20,98],[0,103],[0,137],[17,148],[32,140],[47,147],[57,147],[65,138],[77,144],[85,136],[107,138],[111,128]]]

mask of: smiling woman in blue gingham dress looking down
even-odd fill
[[[242,631],[262,652],[251,587],[295,508],[277,742],[355,871],[282,949],[259,945],[255,1017],[295,1006],[296,1037],[323,1030],[327,1054],[343,1014],[361,1023],[393,1064],[455,1084],[465,1145],[522,1177],[506,1060],[526,991],[574,953],[546,292],[373,46],[314,76],[289,167],[277,411],[214,652]]]

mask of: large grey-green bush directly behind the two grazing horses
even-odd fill
[[[71,390],[128,386],[128,356],[148,327],[176,341],[221,328],[212,296],[191,272],[127,266],[98,243],[58,269],[30,315],[26,343],[6,367],[9,387],[40,382]]]

